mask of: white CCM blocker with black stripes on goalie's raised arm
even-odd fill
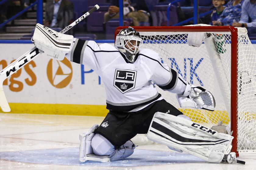
[[[72,49],[74,37],[56,32],[44,25],[36,25],[33,40],[38,49],[55,60],[63,60]]]

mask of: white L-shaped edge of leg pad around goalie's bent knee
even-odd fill
[[[95,124],[88,132],[84,132],[79,135],[80,139],[80,151],[79,151],[79,161],[84,163],[86,161],[99,161],[99,162],[109,162],[110,158],[108,156],[98,156],[93,153],[91,147],[91,140],[94,137],[94,131],[98,128],[98,124]]]

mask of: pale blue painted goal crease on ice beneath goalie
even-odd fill
[[[1,152],[1,159],[35,164],[80,165],[101,167],[136,167],[143,165],[164,165],[172,163],[200,163],[200,158],[186,153],[135,149],[130,157],[108,163],[79,163],[79,148],[43,149],[33,151]]]

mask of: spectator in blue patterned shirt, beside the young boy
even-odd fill
[[[231,0],[226,5],[217,21],[213,21],[213,25],[232,25],[233,22],[240,20],[242,4],[244,0]]]

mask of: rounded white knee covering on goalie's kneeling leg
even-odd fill
[[[99,156],[111,155],[115,152],[115,146],[108,141],[104,136],[95,134],[91,140],[93,153]]]

